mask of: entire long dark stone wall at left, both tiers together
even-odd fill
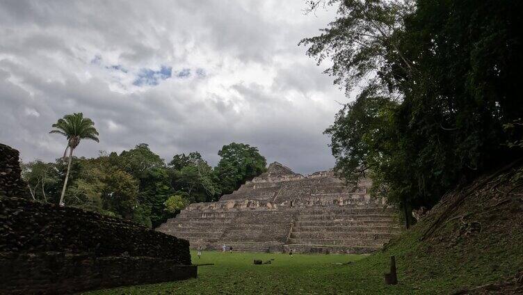
[[[0,198],[0,294],[195,278],[188,241],[71,207]]]

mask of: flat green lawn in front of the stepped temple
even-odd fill
[[[364,255],[300,255],[271,253],[203,252],[194,264],[198,278],[154,285],[99,290],[89,294],[389,294],[383,278],[367,276],[355,263]],[[252,260],[274,259],[271,264],[254,265]],[[344,264],[339,264],[344,263]],[[383,269],[387,271],[387,269]],[[392,287],[397,289],[396,287]],[[367,291],[366,291],[367,289]],[[382,293],[383,292],[383,293]],[[400,294],[403,292],[400,292]]]

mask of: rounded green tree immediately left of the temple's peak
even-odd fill
[[[258,148],[244,143],[224,145],[218,156],[221,159],[215,172],[224,194],[232,193],[247,180],[266,171],[267,161],[259,154]]]

